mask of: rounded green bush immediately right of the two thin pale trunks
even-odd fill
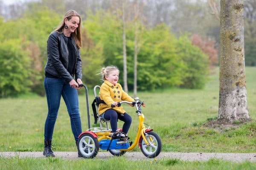
[[[138,89],[154,90],[180,85],[184,63],[177,55],[176,39],[170,34],[168,26],[159,24],[144,31],[143,40],[145,42],[138,54]],[[129,70],[132,71],[133,68]]]

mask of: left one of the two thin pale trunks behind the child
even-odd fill
[[[122,23],[123,23],[123,81],[124,91],[128,93],[127,85],[127,62],[126,62],[126,37],[125,37],[125,0],[122,0]]]

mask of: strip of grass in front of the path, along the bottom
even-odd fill
[[[0,157],[3,170],[255,170],[256,163],[244,161],[234,163],[221,159],[208,161],[182,161],[180,159],[148,159],[127,161],[125,157],[110,159],[64,160],[60,158],[10,158]]]

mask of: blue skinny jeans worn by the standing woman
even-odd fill
[[[77,90],[70,87],[69,83],[63,78],[48,77],[44,78],[44,88],[48,104],[48,115],[44,125],[44,140],[52,140],[52,133],[58,115],[61,96],[67,106],[74,138],[78,140],[78,136],[82,132],[82,127]]]

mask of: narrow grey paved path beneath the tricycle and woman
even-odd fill
[[[77,152],[54,152],[56,157],[64,159],[83,159],[77,157]],[[0,156],[4,157],[33,157],[44,158],[43,152],[0,152]],[[124,155],[130,160],[145,160],[141,152],[126,152]],[[99,152],[94,159],[108,159],[113,157],[109,152]],[[174,153],[174,152],[161,152],[156,159],[181,159],[184,161],[207,161],[210,158],[223,159],[234,162],[252,161],[256,162],[256,153]]]

